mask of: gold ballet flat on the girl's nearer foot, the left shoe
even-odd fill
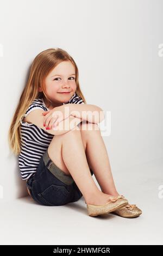
[[[104,205],[87,204],[88,215],[91,217],[108,214],[109,212],[123,208],[128,204],[128,200],[123,196],[117,196],[114,199],[110,199],[108,203]]]

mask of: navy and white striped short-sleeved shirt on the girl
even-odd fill
[[[77,95],[77,93],[74,93],[71,99],[62,105],[68,103],[84,104],[84,101]],[[35,99],[20,120],[22,142],[21,153],[18,156],[18,165],[23,180],[27,180],[30,176],[35,175],[36,169],[39,166],[40,157],[45,153],[52,138],[55,136],[34,124],[29,124],[23,121],[23,118],[34,109],[48,111],[42,98]]]

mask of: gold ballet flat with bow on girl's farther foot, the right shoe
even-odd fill
[[[116,214],[124,218],[134,218],[140,216],[142,211],[137,208],[136,204],[128,204],[121,209],[112,211],[111,214]]]

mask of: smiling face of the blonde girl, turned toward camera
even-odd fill
[[[71,99],[77,88],[75,78],[75,68],[70,61],[61,62],[49,72],[45,80],[46,93],[53,102],[49,109],[61,106]],[[39,91],[41,90],[40,88]]]

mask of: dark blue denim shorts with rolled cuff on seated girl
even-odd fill
[[[93,175],[91,169],[90,172]],[[41,205],[65,205],[83,196],[72,176],[53,163],[47,150],[40,158],[36,173],[27,180],[26,185],[34,201]]]

